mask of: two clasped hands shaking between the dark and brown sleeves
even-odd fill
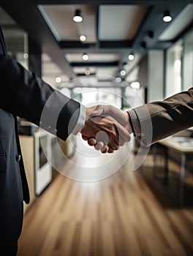
[[[129,113],[112,105],[86,108],[86,121],[80,132],[88,145],[102,153],[113,153],[130,140]]]

